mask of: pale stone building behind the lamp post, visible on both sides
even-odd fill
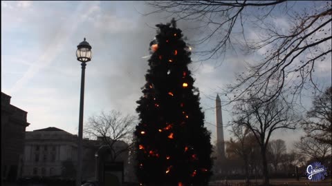
[[[123,145],[120,141],[119,145]],[[102,146],[100,138],[97,140],[83,139],[83,170],[82,180],[95,180],[95,168],[98,149]],[[102,155],[102,154],[99,154]],[[98,159],[98,174],[103,174],[100,163],[109,160],[107,156]],[[128,152],[119,157],[127,165]],[[24,169],[22,176],[55,176],[75,179],[77,167],[77,135],[48,127],[33,132],[26,132],[24,149]],[[99,176],[99,178],[104,178]]]

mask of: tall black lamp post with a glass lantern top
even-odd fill
[[[83,137],[83,107],[84,107],[84,79],[85,79],[85,66],[86,63],[91,61],[91,45],[88,42],[82,41],[77,45],[76,50],[77,61],[82,65],[81,76],[81,99],[80,99],[80,118],[78,121],[78,141],[77,141],[77,174],[76,186],[80,186],[82,182],[82,137]]]

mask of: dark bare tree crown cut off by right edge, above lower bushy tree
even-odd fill
[[[313,107],[306,113],[303,121],[306,136],[320,143],[332,145],[332,87],[323,94],[316,96]]]

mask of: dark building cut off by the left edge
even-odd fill
[[[24,135],[28,112],[10,104],[11,96],[1,92],[1,181],[15,180],[21,174]]]

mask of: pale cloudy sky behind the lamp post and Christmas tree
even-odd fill
[[[84,37],[93,52],[86,65],[84,121],[102,111],[136,114],[149,68],[142,56],[149,54],[155,25],[171,19],[141,14],[149,11],[142,1],[1,1],[1,92],[12,96],[12,105],[28,112],[26,130],[57,127],[77,134],[81,65],[75,51]],[[282,17],[275,20],[288,26]],[[201,37],[201,30],[192,29],[194,23],[178,21],[177,25],[188,43]],[[199,56],[193,54],[192,60],[199,61]],[[216,141],[212,98],[220,87],[234,81],[245,60],[255,61],[255,56],[228,53],[223,60],[190,65],[212,143]],[[321,70],[325,79],[331,79],[331,63],[323,63]],[[228,110],[223,107],[224,124],[231,120]],[[225,140],[230,138],[228,130],[224,128]],[[289,148],[301,135],[299,130],[280,131],[272,138],[284,139]]]

